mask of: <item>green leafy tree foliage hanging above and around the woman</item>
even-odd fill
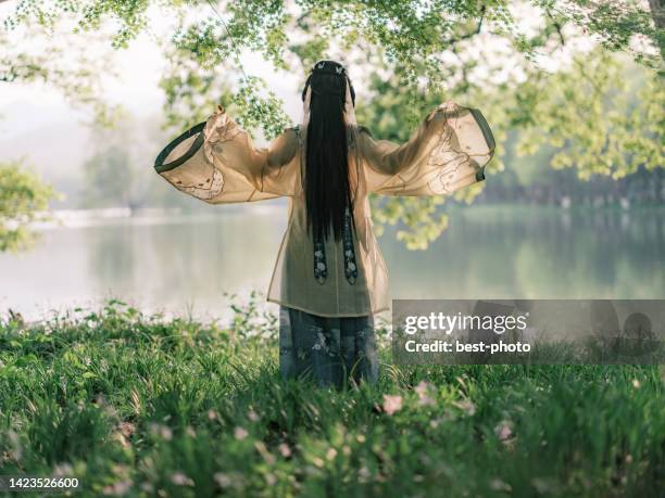
[[[547,152],[555,168],[619,178],[662,166],[665,103],[663,9],[652,0],[16,0],[0,41],[0,82],[45,79],[92,104],[109,67],[61,71],[48,58],[23,53],[20,33],[78,35],[114,49],[149,34],[168,61],[165,127],[177,132],[223,103],[242,126],[275,137],[289,124],[280,100],[241,63],[253,52],[276,71],[301,73],[317,59],[351,67],[360,89],[359,117],[380,138],[405,140],[444,99],[478,106],[504,167],[510,133],[515,153]],[[85,33],[85,36],[83,34]],[[614,53],[613,53],[614,52]],[[624,55],[617,56],[616,52]],[[81,53],[85,53],[81,50]],[[362,72],[361,72],[362,68]],[[626,80],[626,75],[632,79]],[[512,142],[511,142],[512,143]],[[490,171],[491,173],[491,171]],[[479,192],[468,189],[462,199]],[[402,222],[398,237],[424,248],[446,229],[443,199],[375,201],[379,225]]]

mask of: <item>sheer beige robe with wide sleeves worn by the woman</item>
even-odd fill
[[[325,243],[327,278],[314,277],[313,241],[303,195],[306,122],[289,128],[267,149],[252,145],[222,107],[167,145],[156,171],[176,189],[211,204],[289,200],[267,299],[324,317],[354,317],[389,308],[388,273],[372,230],[368,194],[438,195],[485,179],[494,152],[489,126],[477,110],[452,102],[434,110],[411,139],[398,145],[349,126],[353,189],[353,240],[357,277],[350,283],[344,254],[334,238]],[[241,261],[238,261],[239,264]]]

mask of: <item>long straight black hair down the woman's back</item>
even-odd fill
[[[308,230],[319,240],[326,240],[330,229],[335,240],[340,240],[344,212],[353,210],[344,120],[347,85],[355,104],[344,67],[335,61],[319,61],[302,92],[304,100],[311,88],[304,171]]]

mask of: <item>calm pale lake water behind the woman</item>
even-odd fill
[[[148,311],[223,317],[225,292],[267,290],[286,208],[262,207],[45,229],[33,250],[0,254],[0,312],[36,319],[118,297]],[[664,215],[470,206],[451,212],[425,252],[390,229],[379,244],[393,298],[665,298]]]

